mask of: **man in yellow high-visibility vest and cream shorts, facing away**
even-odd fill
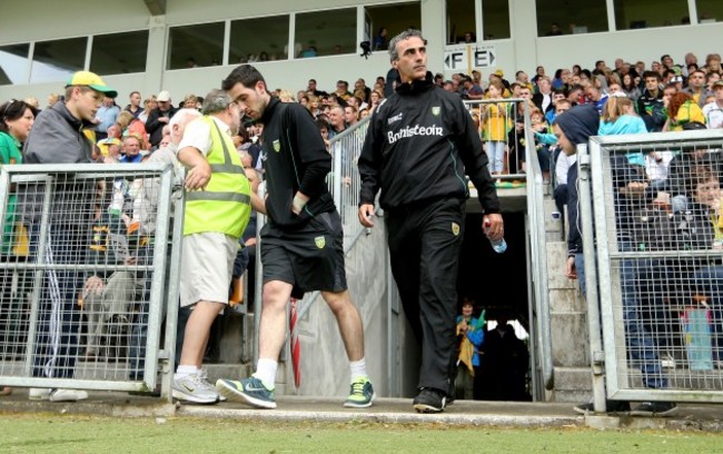
[[[202,112],[186,127],[178,146],[178,159],[189,168],[180,304],[194,310],[172,393],[179,401],[214,404],[219,395],[206,379],[204,353],[211,324],[228,304],[234,259],[251,213],[251,190],[231,140],[240,127],[238,106],[224,90],[211,90]]]

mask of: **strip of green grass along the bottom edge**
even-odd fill
[[[713,453],[720,434],[0,414],[6,453]]]

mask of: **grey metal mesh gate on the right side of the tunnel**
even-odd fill
[[[594,137],[578,154],[595,408],[723,402],[723,131]]]

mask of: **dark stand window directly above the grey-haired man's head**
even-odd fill
[[[409,27],[422,28],[422,9],[419,2],[380,4],[365,7],[366,17],[365,39],[372,41],[374,50],[387,50],[389,40],[402,33]],[[382,29],[386,29],[386,36],[379,37]]]

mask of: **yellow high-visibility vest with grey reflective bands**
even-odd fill
[[[211,149],[206,160],[211,179],[205,190],[186,193],[184,235],[220,233],[240,238],[251,215],[251,185],[228,134],[222,134],[211,117],[199,120],[210,127]]]

